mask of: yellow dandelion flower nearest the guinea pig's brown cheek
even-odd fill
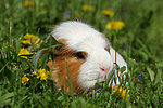
[[[46,71],[46,69],[39,69],[37,71],[37,78],[40,78],[40,80],[48,80],[49,71]]]

